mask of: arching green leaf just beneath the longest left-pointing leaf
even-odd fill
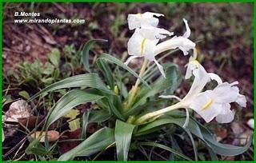
[[[97,101],[103,96],[98,94],[87,93],[86,90],[74,89],[66,93],[61,99],[59,99],[52,110],[47,114],[46,129],[59,117],[64,116],[71,109],[77,105],[84,104],[90,101]]]

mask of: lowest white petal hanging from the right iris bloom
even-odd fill
[[[216,116],[216,121],[218,123],[230,123],[234,120],[234,113],[234,110],[230,110],[230,104],[224,103],[222,104],[222,113]]]

